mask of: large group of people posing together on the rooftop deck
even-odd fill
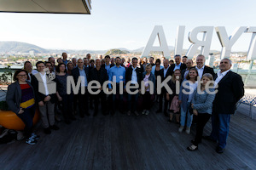
[[[32,133],[32,118],[36,107],[40,112],[44,133],[51,133],[51,130],[59,129],[55,125],[55,111],[58,107],[67,124],[76,120],[77,105],[80,117],[89,116],[89,110],[93,107],[93,116],[96,116],[99,104],[105,116],[109,113],[113,116],[117,110],[127,116],[139,116],[137,101],[141,95],[143,115],[148,115],[153,101],[158,101],[156,113],[163,111],[169,122],[173,122],[175,116],[175,122],[180,125],[180,133],[185,129],[189,134],[193,117],[196,119],[195,139],[191,141],[188,150],[198,149],[203,138],[203,128],[212,117],[212,133],[204,139],[218,141],[216,151],[224,152],[230,115],[234,114],[236,102],[244,94],[241,76],[230,71],[230,59],[222,59],[220,71],[215,74],[211,67],[205,65],[205,56],[201,54],[196,58],[196,65],[192,59],[180,55],[174,56],[173,64],[168,59],[162,62],[156,59],[154,62],[153,57],[149,58],[149,62],[147,58],[132,58],[126,63],[124,59],[113,59],[108,55],[104,59],[94,60],[87,54],[84,59],[73,58],[69,61],[67,54],[63,53],[62,58],[58,59],[58,65],[55,65],[53,57],[46,62],[38,61],[37,71],[26,61],[23,70],[15,71],[15,83],[9,85],[7,103],[26,124],[24,131],[27,144],[36,144],[39,138]],[[45,68],[48,68],[47,71]],[[51,78],[52,75],[55,77]],[[68,77],[72,77],[74,82],[70,92],[67,88]],[[94,81],[98,83],[92,92],[98,91],[98,94],[89,92],[88,86],[94,84]],[[108,82],[108,93],[104,89],[105,82]],[[164,82],[167,82],[172,93],[161,84]],[[76,87],[79,88],[74,89]],[[213,93],[216,90],[218,92]],[[193,93],[185,93],[189,91]],[[124,110],[125,105],[127,111]]]

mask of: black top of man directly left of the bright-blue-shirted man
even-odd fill
[[[100,82],[101,86],[104,82],[108,81],[108,73],[105,68],[100,68],[99,71],[97,71],[96,68],[93,68],[90,70],[90,81],[96,80]]]

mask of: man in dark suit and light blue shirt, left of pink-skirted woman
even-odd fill
[[[164,82],[166,80],[166,77],[172,76],[172,68],[171,66],[169,67],[169,61],[168,59],[164,59],[163,65],[164,68],[160,70],[160,77],[161,77],[161,82]],[[162,112],[162,105],[163,105],[163,98],[165,99],[164,103],[164,114],[165,116],[168,116],[167,114],[167,107],[169,101],[166,99],[166,88],[161,88],[161,94],[159,95],[160,101],[159,101],[159,109],[156,111],[157,113]]]

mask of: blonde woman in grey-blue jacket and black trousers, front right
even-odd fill
[[[209,81],[212,82],[209,83]],[[206,73],[201,77],[201,89],[195,90],[191,102],[193,114],[198,116],[198,120],[195,139],[191,141],[192,144],[187,148],[188,150],[198,149],[198,144],[201,143],[203,129],[212,116],[212,102],[214,98],[213,77],[210,73]]]

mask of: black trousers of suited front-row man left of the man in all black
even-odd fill
[[[79,92],[78,94],[78,99],[79,99],[79,115],[80,116],[84,116],[88,115],[89,113],[89,107],[88,107],[88,90],[87,88],[85,88],[85,93],[81,94],[81,92]]]

